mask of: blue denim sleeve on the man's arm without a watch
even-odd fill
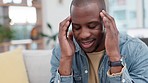
[[[62,76],[59,73],[59,64],[60,64],[60,57],[61,57],[61,50],[60,46],[57,45],[52,52],[52,57],[51,57],[51,79],[50,83],[73,83],[73,76],[72,75],[67,75],[67,76]]]

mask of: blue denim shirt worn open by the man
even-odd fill
[[[76,51],[72,63],[72,75],[60,76],[58,67],[60,62],[60,46],[53,49],[51,58],[50,83],[88,83],[89,63],[84,51],[75,42]],[[105,53],[98,76],[100,83],[148,83],[148,47],[137,38],[120,35],[120,54],[123,57],[123,71],[121,75],[110,76],[108,56]]]

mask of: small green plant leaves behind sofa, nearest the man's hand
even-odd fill
[[[51,25],[49,23],[47,23],[47,26],[48,26],[48,29],[50,31],[52,31],[52,27],[51,27]],[[40,35],[41,35],[41,37],[46,37],[47,38],[46,44],[49,44],[51,40],[56,41],[58,33],[48,35],[48,34],[45,34],[45,33],[41,32]]]

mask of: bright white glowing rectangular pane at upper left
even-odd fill
[[[9,18],[11,23],[36,23],[36,9],[34,7],[9,7]]]

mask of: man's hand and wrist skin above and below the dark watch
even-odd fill
[[[117,30],[115,20],[104,10],[100,12],[100,16],[103,19],[103,23],[106,29],[105,48],[111,62],[119,61],[120,49],[119,49],[119,32]],[[122,70],[122,66],[111,67],[110,74],[119,73]]]

